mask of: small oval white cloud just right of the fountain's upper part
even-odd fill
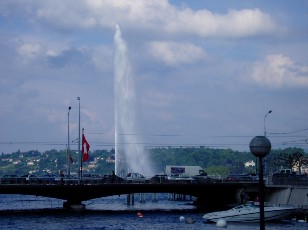
[[[201,47],[191,43],[151,42],[149,52],[157,59],[163,60],[170,66],[192,64],[203,59],[206,55]]]

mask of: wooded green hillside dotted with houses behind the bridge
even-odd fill
[[[254,173],[256,171],[255,167],[245,168],[244,166],[244,163],[247,161],[253,160],[256,162],[256,158],[250,152],[239,152],[232,149],[212,149],[203,146],[154,148],[150,149],[149,152],[151,161],[155,162],[157,173],[164,172],[166,165],[198,165],[209,175],[220,175],[222,177],[230,173]],[[90,151],[89,161],[82,163],[83,172],[110,175],[115,168],[114,153],[114,149]],[[294,155],[294,153],[297,153],[297,157],[307,156],[304,150],[299,148],[272,150],[265,159],[267,172],[272,173],[281,167],[281,162],[277,164],[278,156],[283,154]],[[74,161],[73,164],[70,164],[71,173],[77,174],[77,150],[71,150],[71,156]],[[295,158],[295,155],[293,158]],[[29,172],[36,175],[46,173],[58,175],[60,170],[66,172],[67,160],[66,150],[52,149],[44,153],[32,150],[2,154],[0,156],[0,176],[4,174],[23,175]],[[304,163],[302,161],[302,164]]]

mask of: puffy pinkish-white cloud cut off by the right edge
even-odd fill
[[[252,80],[270,88],[308,87],[308,66],[282,54],[271,54],[254,63]]]

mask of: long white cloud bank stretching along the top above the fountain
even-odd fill
[[[23,14],[32,23],[48,24],[60,30],[113,28],[115,24],[120,24],[157,34],[165,32],[200,37],[276,33],[275,22],[260,9],[230,9],[225,14],[217,14],[207,9],[178,8],[167,0],[12,0],[3,3],[2,8],[2,15],[9,15],[8,12],[19,16]]]

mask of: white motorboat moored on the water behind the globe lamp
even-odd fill
[[[293,207],[266,206],[264,207],[264,220],[281,220],[295,212]],[[227,211],[211,212],[203,216],[204,222],[217,222],[223,219],[227,222],[258,222],[260,221],[260,208],[253,204],[245,204]]]

